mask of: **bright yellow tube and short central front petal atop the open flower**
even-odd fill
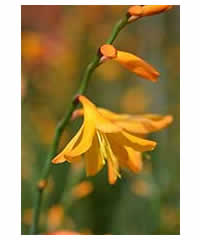
[[[90,124],[95,124],[95,128],[104,133],[119,132],[121,128],[113,124],[111,121],[102,116],[96,106],[86,97],[79,96],[79,101],[83,105],[84,121]]]

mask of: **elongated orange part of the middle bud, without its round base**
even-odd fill
[[[113,58],[113,60],[119,62],[129,71],[140,77],[151,80],[152,82],[156,82],[157,78],[160,76],[159,72],[157,72],[155,68],[133,54],[117,51],[117,57]]]

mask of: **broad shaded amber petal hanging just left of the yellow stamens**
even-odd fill
[[[91,148],[85,153],[87,176],[96,175],[103,167],[105,161],[100,152],[100,146],[95,135]]]

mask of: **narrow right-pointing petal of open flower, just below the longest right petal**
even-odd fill
[[[115,139],[115,141],[117,141],[119,144],[131,147],[138,152],[152,151],[156,146],[156,142],[154,141],[136,137],[125,131],[107,135],[109,138]]]

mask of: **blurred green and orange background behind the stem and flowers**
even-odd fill
[[[22,234],[32,221],[34,187],[55,126],[79,86],[84,68],[129,6],[22,6]],[[124,171],[114,186],[106,168],[86,178],[82,163],[55,165],[44,196],[41,232],[179,234],[180,9],[128,25],[114,42],[161,73],[158,83],[136,77],[115,62],[100,66],[86,95],[116,112],[172,114],[167,129],[152,134],[158,147],[144,156],[139,175]],[[66,128],[62,149],[80,126]],[[78,182],[81,184],[78,184]]]

